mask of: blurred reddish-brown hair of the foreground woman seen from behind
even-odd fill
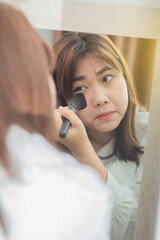
[[[0,3],[0,165],[10,172],[5,137],[11,124],[53,142],[49,89],[52,57],[25,16]]]

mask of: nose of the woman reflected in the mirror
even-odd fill
[[[106,89],[103,89],[101,86],[96,86],[95,91],[93,93],[93,105],[103,106],[104,104],[109,102],[108,94]]]

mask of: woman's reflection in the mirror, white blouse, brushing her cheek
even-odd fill
[[[122,54],[105,35],[68,33],[53,46],[53,76],[63,106],[83,93],[76,114],[56,110],[57,141],[105,179],[114,197],[112,240],[131,240],[136,220],[148,113],[140,112],[134,81]],[[71,122],[66,138],[62,117]]]

